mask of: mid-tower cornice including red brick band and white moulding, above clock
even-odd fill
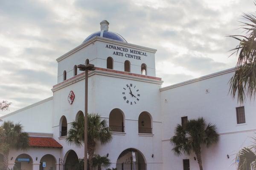
[[[163,83],[161,78],[148,76],[148,75],[139,75],[139,74],[130,73],[130,72],[122,72],[122,71],[117,71],[117,70],[113,70],[113,69],[103,69],[103,68],[99,68],[99,67],[96,67],[96,69],[93,71],[89,71],[88,77],[90,77],[92,75],[105,75],[105,76],[124,78],[124,79],[135,80],[135,81],[143,81],[143,82],[154,83],[154,84],[162,84]],[[69,86],[78,81],[81,81],[84,78],[85,78],[85,75],[84,75],[84,72],[82,72],[79,75],[76,75],[72,78],[69,78],[69,79],[59,83],[59,84],[54,85],[52,87],[52,92],[55,92],[55,91],[62,89],[66,86]]]

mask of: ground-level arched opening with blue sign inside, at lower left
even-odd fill
[[[15,169],[16,168],[16,169]],[[33,170],[33,159],[28,154],[20,154],[15,159],[15,170]]]

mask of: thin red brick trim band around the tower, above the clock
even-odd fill
[[[117,73],[117,74],[122,74],[122,75],[131,75],[131,76],[135,76],[135,77],[140,77],[140,78],[148,78],[148,79],[153,79],[153,80],[158,80],[158,81],[161,81],[162,78],[158,78],[158,77],[154,77],[154,76],[149,76],[149,75],[140,75],[140,74],[135,74],[135,73],[131,73],[131,72],[122,72],[122,71],[118,71],[118,70],[113,70],[113,69],[104,69],[104,68],[99,68],[99,67],[95,67],[96,70],[99,70],[99,71],[104,71],[104,72],[113,72],[113,73]],[[91,71],[90,71],[91,72]],[[84,72],[78,74],[78,75],[75,75],[73,76],[72,78],[69,78],[65,81],[62,81],[61,83],[59,84],[56,84],[53,86],[53,88],[55,87],[58,87],[60,86],[61,84],[65,84],[66,82],[68,81],[71,81],[77,77],[80,77],[81,75],[84,75]]]

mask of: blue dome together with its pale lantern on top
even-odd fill
[[[108,31],[108,21],[107,20],[103,20],[102,22],[100,22],[100,29],[101,31],[99,32],[95,32],[91,35],[89,35],[84,41],[83,43],[87,42],[88,40],[92,39],[93,37],[99,36],[99,37],[104,37],[104,38],[108,38],[111,40],[116,40],[116,41],[121,41],[124,43],[127,43],[127,41],[119,34],[115,33],[115,32],[111,32]]]

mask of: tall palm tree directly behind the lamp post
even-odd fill
[[[112,136],[107,127],[107,121],[101,120],[99,114],[88,115],[87,148],[89,155],[90,170],[93,168],[93,155],[96,148],[96,141],[102,145],[111,141]],[[81,147],[84,144],[84,117],[79,115],[78,121],[71,123],[71,129],[68,131],[67,139],[70,144]]]

